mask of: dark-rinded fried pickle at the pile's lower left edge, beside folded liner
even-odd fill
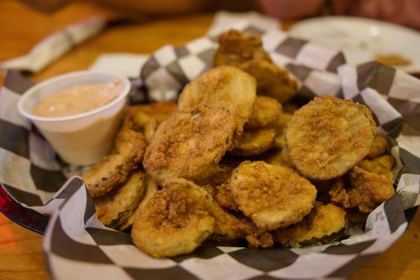
[[[145,187],[144,173],[135,172],[123,186],[102,197],[95,197],[93,201],[99,221],[109,228],[122,230],[122,226],[133,216]]]

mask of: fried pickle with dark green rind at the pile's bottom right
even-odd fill
[[[290,247],[326,244],[344,235],[346,226],[346,211],[331,203],[316,202],[302,221],[276,230],[275,239]]]

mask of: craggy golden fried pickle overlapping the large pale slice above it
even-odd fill
[[[231,148],[235,124],[219,108],[177,112],[158,126],[144,155],[143,166],[156,182],[180,177],[206,181]]]

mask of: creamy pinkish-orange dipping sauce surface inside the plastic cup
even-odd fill
[[[41,117],[79,115],[112,102],[125,87],[119,79],[109,83],[74,85],[41,99],[32,113]]]

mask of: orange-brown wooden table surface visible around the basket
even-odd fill
[[[42,15],[15,1],[0,1],[0,61],[23,55],[41,38],[88,15],[110,13],[76,3],[53,15]],[[32,76],[43,80],[67,71],[86,69],[107,52],[151,53],[162,45],[203,36],[212,14],[111,27],[100,36],[68,52]],[[4,77],[0,75],[0,84]],[[405,235],[385,253],[365,264],[351,279],[420,279],[420,215]],[[0,214],[0,279],[48,279],[43,265],[42,237]]]

